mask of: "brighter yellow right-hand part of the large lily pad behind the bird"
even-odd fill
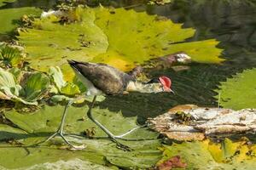
[[[96,25],[108,36],[109,47],[94,61],[108,63],[126,70],[134,62],[184,51],[192,60],[205,63],[218,63],[221,49],[216,48],[214,39],[199,42],[183,42],[193,37],[195,30],[183,28],[172,20],[145,12],[137,13],[125,8],[96,8]]]

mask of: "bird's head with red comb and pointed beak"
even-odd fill
[[[174,94],[172,91],[172,81],[169,77],[158,77],[158,78],[153,78],[147,84],[153,84],[154,85],[154,92],[171,92]]]

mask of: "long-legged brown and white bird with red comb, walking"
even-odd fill
[[[76,61],[73,59],[67,59],[68,64],[73,68],[75,75],[87,88],[87,96],[94,96],[90,104],[89,110],[87,111],[87,116],[92,122],[95,122],[98,127],[100,127],[107,135],[108,138],[113,140],[114,143],[118,144],[119,148],[129,150],[130,148],[125,144],[119,143],[117,139],[121,139],[124,135],[131,133],[125,133],[124,135],[115,136],[106,127],[104,127],[100,122],[98,122],[92,116],[92,108],[96,101],[98,95],[115,95],[115,94],[125,94],[126,92],[140,92],[140,93],[174,93],[172,91],[172,81],[169,77],[161,76],[154,77],[148,82],[139,82],[136,79],[137,71],[141,71],[140,67],[136,67],[133,71],[125,73],[119,71],[113,66],[102,64],[102,63],[90,63],[83,61]],[[51,135],[46,141],[55,137],[59,134],[61,138],[70,146],[76,147],[70,144],[63,135],[63,127],[65,122],[65,117],[67,115],[68,105],[72,105],[73,102],[69,102],[62,115],[61,124],[58,130]]]

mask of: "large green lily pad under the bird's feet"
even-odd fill
[[[26,131],[34,137],[28,136],[18,141],[22,141],[25,145],[36,144],[43,141],[51,133],[54,133],[61,121],[61,114],[64,106],[44,106],[34,114],[20,114],[16,111],[8,111],[5,113],[9,121],[14,122],[20,129]],[[84,133],[90,129],[95,130],[95,137],[106,136],[102,130],[88,119],[84,113],[88,111],[88,106],[73,107],[68,109],[67,122],[65,125],[65,133]],[[102,122],[114,134],[125,133],[133,127],[138,127],[137,117],[123,117],[118,112],[111,112],[107,109],[93,109],[93,115],[99,122]],[[84,117],[84,118],[83,118]],[[5,129],[3,129],[4,131]],[[0,132],[2,131],[0,127]],[[79,151],[58,150],[57,145],[50,147],[27,148],[29,150],[28,156],[20,156],[20,153],[27,154],[25,151],[20,151],[19,156],[15,156],[15,151],[20,148],[9,149],[1,148],[0,154],[9,153],[9,156],[0,158],[0,165],[3,167],[27,167],[35,164],[42,164],[46,162],[67,161],[73,159],[81,159],[83,161],[91,161],[93,163],[107,165],[109,162],[117,167],[122,168],[148,168],[153,167],[156,161],[160,160],[161,151],[157,148],[160,146],[160,141],[156,139],[158,133],[148,131],[145,128],[139,128],[135,132],[127,135],[127,139],[143,139],[149,138],[152,140],[143,141],[122,141],[123,144],[129,145],[131,152],[126,152],[116,148],[109,139],[85,139],[83,136],[74,138],[67,135],[67,139],[73,144],[85,144],[86,148]],[[59,138],[52,139],[55,144],[62,141]],[[2,146],[3,144],[0,144]],[[49,145],[47,143],[46,145]],[[93,153],[93,154],[92,154]],[[12,157],[14,156],[14,157]],[[13,161],[15,160],[15,163]]]

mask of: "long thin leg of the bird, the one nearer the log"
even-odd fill
[[[126,146],[125,144],[121,144],[119,143],[119,141],[116,140],[115,136],[113,135],[113,133],[111,133],[110,131],[108,131],[108,129],[106,127],[104,127],[100,122],[98,122],[96,119],[93,118],[93,116],[91,115],[91,110],[94,106],[94,103],[96,101],[96,95],[94,96],[91,104],[90,104],[90,107],[89,107],[89,110],[87,111],[87,116],[90,118],[90,120],[92,122],[95,122],[96,125],[98,127],[100,127],[105,133],[108,134],[108,137],[114,142],[117,144],[117,146],[120,148],[120,149],[123,149],[123,150],[131,150],[130,147]]]

